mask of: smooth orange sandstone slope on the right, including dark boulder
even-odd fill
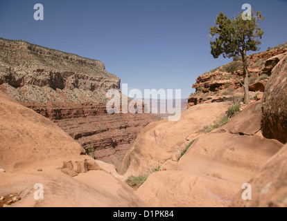
[[[152,206],[287,206],[286,58],[284,52],[269,59],[276,62],[263,99],[241,104],[227,124],[200,130],[209,116],[224,115],[228,99],[193,105],[175,124],[153,122],[141,131],[123,164],[124,177],[148,176],[135,193]],[[252,200],[241,197],[245,183]]]

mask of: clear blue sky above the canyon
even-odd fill
[[[33,19],[35,3],[44,21]],[[261,51],[287,41],[283,0],[1,0],[0,37],[98,59],[129,88],[181,89],[184,98],[199,75],[229,62],[211,56],[209,26],[243,3],[266,17]]]

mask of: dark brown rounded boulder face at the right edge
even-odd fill
[[[287,55],[273,68],[263,95],[264,137],[287,142]]]

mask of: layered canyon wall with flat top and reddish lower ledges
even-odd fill
[[[107,114],[109,89],[120,90],[120,79],[107,73],[101,61],[0,39],[0,90],[121,169],[139,131],[159,117]]]

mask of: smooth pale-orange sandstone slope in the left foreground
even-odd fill
[[[146,206],[60,127],[0,92],[0,206]],[[35,200],[34,185],[44,188]],[[15,202],[15,203],[13,203]]]

